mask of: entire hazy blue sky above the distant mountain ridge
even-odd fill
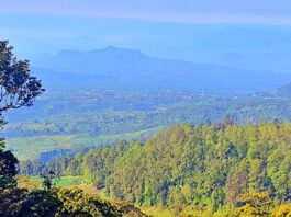
[[[0,37],[31,59],[113,45],[290,72],[290,0],[0,0]]]

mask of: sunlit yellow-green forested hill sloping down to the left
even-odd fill
[[[291,199],[290,135],[290,123],[186,124],[145,144],[97,148],[44,168],[26,163],[22,173],[83,175],[107,196],[143,206],[268,213]]]

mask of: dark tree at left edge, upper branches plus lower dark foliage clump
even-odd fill
[[[7,124],[5,112],[31,106],[35,98],[44,92],[41,81],[31,76],[29,61],[18,60],[12,49],[8,41],[0,41],[0,128]],[[5,150],[4,139],[0,138],[0,197],[15,192],[16,164],[18,159]],[[12,193],[11,198],[15,196]]]

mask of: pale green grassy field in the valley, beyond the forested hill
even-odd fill
[[[29,160],[36,158],[42,152],[48,152],[56,149],[75,149],[94,147],[102,144],[112,144],[113,141],[126,139],[135,140],[145,135],[154,135],[160,128],[145,129],[126,134],[114,134],[103,136],[91,136],[86,134],[77,135],[54,135],[54,136],[33,136],[15,137],[7,139],[7,147],[18,159]]]

